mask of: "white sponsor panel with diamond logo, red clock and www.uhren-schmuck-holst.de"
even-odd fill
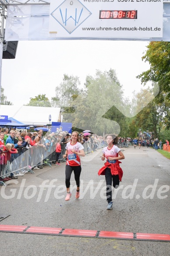
[[[51,0],[49,37],[162,37],[163,0]]]

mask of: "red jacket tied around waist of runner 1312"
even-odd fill
[[[118,172],[119,175],[119,180],[122,180],[122,176],[123,176],[123,171],[119,166],[119,163],[121,163],[120,161],[116,161],[115,163],[110,163],[110,162],[105,162],[104,166],[102,168],[99,169],[98,174],[99,175],[105,175],[105,169],[106,168],[110,168],[111,174],[114,175],[115,171]]]

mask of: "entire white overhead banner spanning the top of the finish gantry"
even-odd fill
[[[162,3],[160,2],[161,0],[159,2],[158,0],[155,0],[155,2],[137,2],[137,0],[130,0],[134,2],[124,1],[123,3],[118,2],[118,0],[114,0],[114,3],[111,2],[113,0],[103,0],[103,2],[100,2],[102,0],[81,0],[78,2],[79,4],[83,3],[85,6],[85,12],[83,14],[83,5],[81,5],[81,8],[80,6],[79,8],[75,8],[77,0],[76,2],[69,2],[71,7],[74,6],[71,12],[69,7],[66,8],[67,5],[64,8],[62,7],[62,3],[65,2],[66,4],[66,1],[52,0],[50,5],[7,6],[5,40],[135,39],[143,41],[170,41],[169,3]],[[122,8],[115,7],[117,6],[115,4],[116,1],[118,4],[121,4]],[[105,4],[105,6],[98,6],[98,8],[94,10],[94,7],[97,6],[96,4]],[[114,8],[110,8],[110,4],[111,7]],[[130,8],[129,4],[134,4],[135,6],[142,4],[141,6],[146,7],[146,10],[145,8],[142,9],[142,7],[137,8],[135,6],[131,6]],[[108,8],[106,9],[107,6]],[[153,11],[150,11],[151,16],[146,13],[150,10],[149,6],[154,7]],[[72,11],[74,12],[72,13]],[[132,13],[132,11],[135,11],[135,14]],[[87,17],[85,15],[87,15]],[[124,15],[127,17],[122,17]],[[130,16],[132,16],[132,18],[130,18]],[[152,16],[154,16],[154,18],[152,18]]]

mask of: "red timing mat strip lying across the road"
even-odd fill
[[[69,229],[69,228],[57,228],[57,227],[29,227],[29,226],[0,225],[0,232],[170,242],[170,234],[126,233],[126,232]]]

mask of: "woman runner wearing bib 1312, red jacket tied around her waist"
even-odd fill
[[[119,166],[121,163],[119,160],[124,159],[123,153],[120,151],[120,148],[116,146],[118,142],[118,137],[115,134],[108,134],[106,136],[107,147],[103,148],[102,160],[106,160],[104,166],[99,169],[99,175],[105,175],[106,179],[106,198],[108,206],[106,209],[111,210],[113,206],[112,202],[112,182],[113,187],[117,188],[119,182],[122,179],[123,171]]]

